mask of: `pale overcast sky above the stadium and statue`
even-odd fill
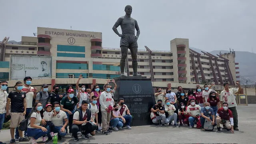
[[[102,46],[118,48],[112,26],[127,4],[140,27],[139,49],[170,50],[170,40],[188,38],[205,51],[256,52],[256,0],[0,0],[0,40],[21,41],[38,26],[72,26],[102,32]]]

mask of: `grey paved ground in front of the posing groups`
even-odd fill
[[[256,142],[256,104],[238,106],[238,120],[240,131],[234,134],[222,131],[221,133],[202,132],[199,129],[188,127],[173,128],[162,126],[136,126],[132,130],[120,130],[112,132],[107,136],[96,134],[96,136],[85,140],[80,138],[74,142],[70,135],[63,138],[59,143],[248,143]],[[0,141],[9,143],[10,130],[2,130]],[[41,141],[39,139],[38,141]],[[22,142],[24,144],[28,142]],[[40,142],[41,143],[41,142]]]

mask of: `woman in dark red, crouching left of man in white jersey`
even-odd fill
[[[189,122],[188,122],[189,116],[187,115],[186,106],[183,102],[180,103],[179,110],[178,110],[178,117],[180,121],[180,126],[183,126],[183,124],[187,124],[189,126]]]

